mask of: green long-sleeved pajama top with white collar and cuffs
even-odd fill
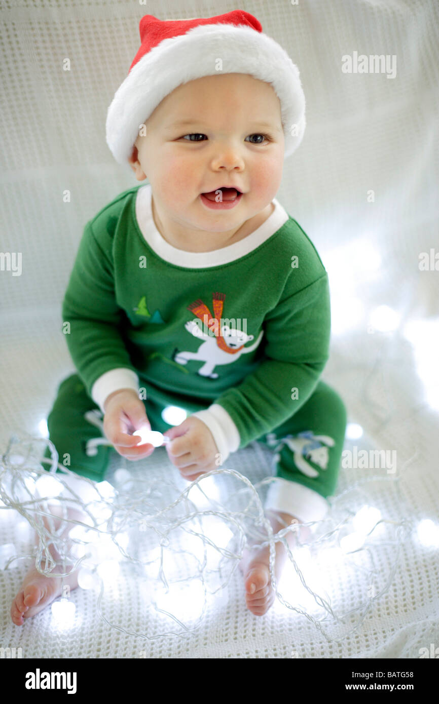
[[[228,456],[307,401],[328,360],[328,275],[307,234],[273,203],[257,230],[202,253],[163,239],[149,184],[87,222],[62,315],[101,410],[116,389],[144,389],[192,408]]]

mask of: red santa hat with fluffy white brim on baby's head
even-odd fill
[[[163,98],[183,83],[218,73],[249,73],[270,83],[280,100],[285,156],[297,149],[306,125],[299,70],[256,17],[243,10],[190,20],[144,15],[139,29],[140,49],[106,118],[106,142],[118,163],[129,165],[140,125]]]

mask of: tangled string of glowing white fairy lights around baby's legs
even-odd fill
[[[278,441],[277,452],[282,442]],[[41,444],[49,445],[50,460],[37,459],[36,450]],[[275,459],[276,453],[273,462]],[[50,467],[44,468],[43,463]],[[244,548],[268,546],[277,608],[285,615],[290,610],[306,617],[328,641],[340,642],[359,628],[374,603],[390,588],[400,550],[416,527],[416,520],[386,519],[378,508],[364,502],[357,510],[338,507],[347,493],[352,495],[361,489],[364,495],[369,482],[390,483],[392,490],[400,491],[402,477],[404,471],[398,477],[361,479],[330,498],[330,511],[324,520],[291,524],[273,534],[264,514],[263,494],[276,477],[252,484],[240,472],[221,468],[202,475],[182,491],[172,474],[161,473],[155,479],[152,474],[143,474],[142,481],[139,477],[133,481],[132,472],[125,466],[116,470],[113,486],[79,477],[58,463],[56,448],[48,439],[15,434],[1,456],[0,509],[18,512],[35,530],[37,543],[25,555],[17,555],[12,543],[0,546],[0,567],[6,569],[17,560],[32,558],[41,574],[61,578],[63,583],[78,570],[78,585],[97,594],[97,610],[104,622],[125,634],[155,640],[190,637],[202,624],[206,608],[228,589]],[[218,492],[218,480],[233,484],[228,485],[227,506]],[[166,503],[166,494],[168,498],[175,496],[173,501],[166,499]],[[58,527],[54,513],[58,515]],[[305,527],[311,530],[308,541],[303,540]],[[433,521],[423,520],[417,527],[420,539],[439,540]],[[292,551],[287,533],[293,531],[297,548]],[[285,567],[290,567],[281,577],[281,589],[275,574],[277,541],[285,546]],[[392,546],[392,564],[385,584],[380,586],[378,577],[382,575],[374,558],[388,546]],[[148,577],[142,582],[148,585],[149,604],[163,617],[166,630],[140,633],[126,624],[112,623],[104,615],[106,596],[124,577],[121,568]],[[352,568],[363,574],[367,596],[359,596],[357,605],[343,613],[331,603],[327,591],[334,581],[330,570],[335,570],[337,579],[343,579],[344,572],[348,578]],[[78,616],[75,602],[68,598],[69,589],[61,589],[64,593],[67,596],[51,604],[54,627],[73,627]],[[197,603],[197,617],[188,608],[188,595]],[[179,602],[184,604],[183,617],[178,614]],[[335,636],[331,631],[334,628]]]

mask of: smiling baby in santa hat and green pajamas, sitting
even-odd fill
[[[284,156],[304,131],[299,73],[244,11],[146,15],[140,36],[109,108],[107,142],[149,184],[124,191],[85,227],[63,302],[78,374],[59,386],[50,439],[60,462],[101,481],[113,450],[94,443],[93,415],[132,461],[154,451],[135,432],[159,430],[189,482],[258,440],[276,447],[278,479],[265,503],[273,532],[319,520],[337,482],[346,410],[320,379],[326,270],[275,197]],[[168,422],[169,406],[185,420]],[[276,579],[285,557],[276,543]],[[268,560],[268,547],[249,546],[240,563],[254,615],[275,596]],[[77,575],[64,584],[73,589]],[[13,622],[60,593],[61,578],[32,567]]]

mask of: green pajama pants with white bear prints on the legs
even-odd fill
[[[185,408],[188,415],[202,410],[190,398],[184,403],[182,396],[175,397],[154,391],[154,398],[144,401],[153,430],[165,432],[168,425],[161,417],[166,406]],[[207,408],[210,403],[206,403]],[[276,476],[289,482],[302,484],[326,498],[335,490],[338,470],[345,440],[347,413],[345,405],[328,384],[319,380],[313,394],[301,408],[271,433],[258,441],[273,448]],[[102,429],[102,414],[89,397],[77,374],[61,382],[54,406],[49,413],[47,426],[49,439],[58,451],[58,462],[82,477],[101,482],[109,465],[110,453],[117,453],[106,441]],[[50,458],[49,446],[44,456]],[[44,463],[49,469],[49,464]]]

